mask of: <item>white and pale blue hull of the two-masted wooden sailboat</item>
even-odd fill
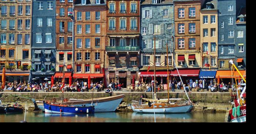
[[[193,105],[184,105],[184,106],[177,106],[177,107],[163,107],[163,108],[135,108],[131,105],[132,110],[137,113],[187,113],[190,112],[193,108]],[[153,107],[153,106],[152,106]]]

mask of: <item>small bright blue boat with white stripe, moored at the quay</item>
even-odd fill
[[[94,106],[68,106],[44,102],[45,113],[72,114],[72,113],[94,113]]]

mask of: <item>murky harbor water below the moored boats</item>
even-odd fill
[[[225,112],[195,111],[180,114],[155,114],[156,122],[225,122]],[[0,122],[20,122],[25,113],[0,114]],[[154,122],[154,114],[107,112],[94,114],[47,114],[26,112],[27,122]]]

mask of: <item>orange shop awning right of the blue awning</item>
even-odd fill
[[[244,78],[246,77],[245,70],[239,70],[242,75],[244,75]],[[231,71],[231,70],[218,70],[216,73],[216,77],[219,78],[238,78],[240,75],[237,71]]]

